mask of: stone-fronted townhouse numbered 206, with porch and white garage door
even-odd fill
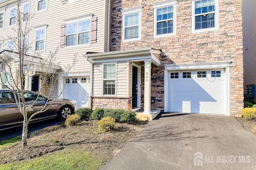
[[[111,37],[84,55],[93,109],[240,116],[242,0],[114,0]]]

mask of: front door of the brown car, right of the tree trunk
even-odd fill
[[[28,108],[28,117],[36,113],[36,111],[40,111],[44,106],[46,106],[44,110],[46,110],[46,108],[49,107],[46,111],[35,115],[32,118],[32,121],[36,121],[39,119],[47,119],[47,118],[56,116],[56,105],[51,104],[50,101],[46,104],[47,102],[46,97],[34,92],[24,92],[24,99],[25,99],[26,106],[32,105],[36,100],[35,105]]]

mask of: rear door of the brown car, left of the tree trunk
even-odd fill
[[[0,92],[0,129],[22,125],[23,115],[20,113],[12,92]]]

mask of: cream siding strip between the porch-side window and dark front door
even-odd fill
[[[128,61],[117,63],[116,96],[128,96]]]

